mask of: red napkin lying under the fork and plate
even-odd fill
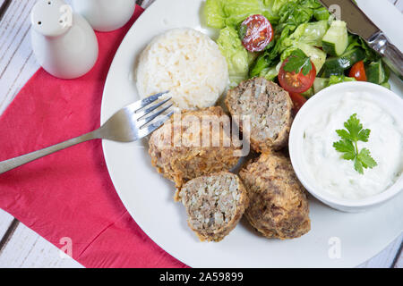
[[[0,161],[99,127],[107,71],[127,30],[97,33],[99,60],[59,80],[39,69],[0,117]],[[186,267],[159,248],[125,210],[100,140],[81,143],[0,175],[0,207],[86,267]],[[67,243],[67,244],[66,244]]]

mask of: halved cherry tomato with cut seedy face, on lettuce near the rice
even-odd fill
[[[252,15],[241,24],[242,44],[250,52],[261,52],[273,38],[270,21],[262,15]]]

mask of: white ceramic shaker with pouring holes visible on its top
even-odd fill
[[[39,0],[30,20],[34,55],[56,78],[79,78],[97,62],[99,46],[94,30],[63,0]]]

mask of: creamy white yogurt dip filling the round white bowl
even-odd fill
[[[319,188],[337,198],[369,198],[388,189],[403,172],[403,129],[382,107],[365,97],[365,91],[346,91],[330,102],[304,130],[304,165]],[[333,143],[340,140],[336,130],[356,114],[364,129],[371,130],[367,148],[378,164],[356,172],[354,161],[341,158]]]

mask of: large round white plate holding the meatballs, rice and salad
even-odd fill
[[[151,38],[179,27],[208,32],[200,22],[202,3],[159,0],[135,22],[107,76],[101,122],[139,99],[133,71],[138,55]],[[389,8],[385,1],[376,13],[386,17],[391,13]],[[390,26],[393,32],[396,21],[390,21]],[[393,88],[403,95],[401,83]],[[302,238],[267,240],[242,221],[225,240],[200,242],[187,226],[184,206],[173,201],[174,185],[151,166],[144,142],[104,140],[103,148],[116,191],[136,223],[161,248],[193,267],[353,267],[375,256],[403,230],[403,194],[361,214],[340,213],[311,199],[312,231]],[[339,258],[332,255],[338,248]]]

